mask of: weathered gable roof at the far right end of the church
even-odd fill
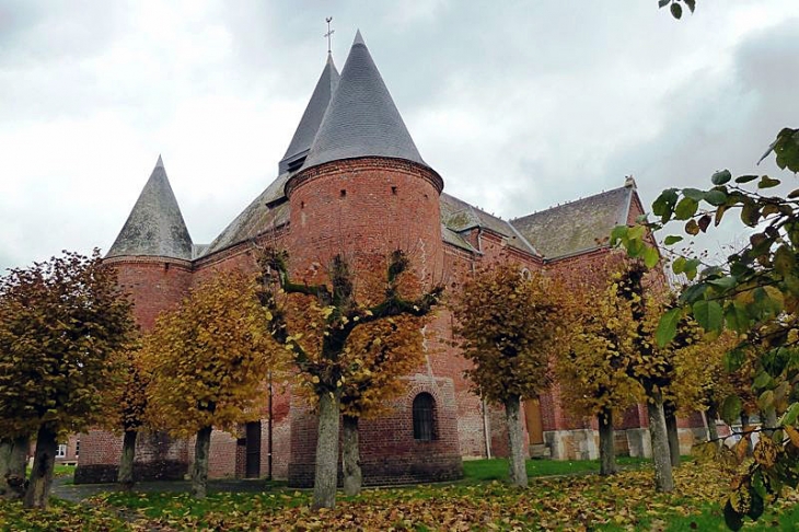
[[[510,223],[545,258],[558,258],[606,245],[614,227],[627,223],[635,189],[621,187],[540,212]]]

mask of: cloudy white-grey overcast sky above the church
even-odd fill
[[[277,175],[329,15],[338,68],[360,27],[445,190],[503,218],[628,174],[648,206],[799,126],[797,0],[0,0],[0,268],[107,251],[159,153],[213,240]]]

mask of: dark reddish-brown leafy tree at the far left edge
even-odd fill
[[[113,268],[65,252],[0,279],[0,424],[36,433],[25,507],[47,506],[58,436],[100,421],[113,354],[135,329]]]

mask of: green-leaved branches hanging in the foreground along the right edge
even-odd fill
[[[799,129],[784,128],[762,159],[774,153],[777,165],[799,172]],[[743,518],[757,519],[781,487],[796,487],[799,474],[799,192],[787,195],[768,189],[781,183],[768,175],[745,174],[733,178],[729,170],[714,173],[706,189],[668,188],[652,204],[656,220],[646,222],[661,230],[672,221],[682,232],[697,235],[719,225],[736,213],[749,229],[746,245],[731,253],[722,264],[706,264],[700,257],[680,256],[673,270],[694,284],[679,305],[667,312],[658,326],[658,339],[665,344],[676,334],[683,315],[693,316],[706,331],[719,334],[728,328],[741,335],[739,348],[726,356],[730,370],[746,362],[750,349],[756,354],[754,390],[757,406],[771,427],[753,449],[754,462],[734,483],[725,506],[727,524],[739,529]],[[613,240],[638,255],[646,247],[630,236],[632,229],[618,228]],[[665,236],[668,245],[683,240]],[[744,402],[730,396],[726,405],[742,412]],[[744,437],[749,440],[749,433]]]

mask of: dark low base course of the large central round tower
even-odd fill
[[[289,487],[312,487],[314,464],[289,463]],[[362,463],[364,486],[418,484],[427,482],[458,481],[463,478],[461,456],[420,456],[418,460],[390,459]],[[341,470],[338,485],[341,486]]]

